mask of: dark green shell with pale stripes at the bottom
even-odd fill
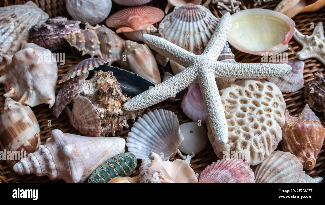
[[[137,163],[136,156],[130,152],[115,155],[100,165],[88,182],[108,182],[116,176],[130,176]]]

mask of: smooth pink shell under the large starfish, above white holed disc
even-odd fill
[[[193,121],[204,124],[208,119],[208,113],[205,109],[201,89],[198,83],[194,83],[188,87],[188,93],[182,101],[183,112]]]

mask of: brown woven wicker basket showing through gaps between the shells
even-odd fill
[[[205,2],[205,0],[203,0]],[[247,8],[253,8],[253,1],[245,1],[241,0],[243,5],[245,5]],[[8,6],[8,5],[14,5],[14,4],[23,4],[26,1],[19,1],[19,0],[0,0],[0,6]],[[69,14],[67,14],[66,7],[65,7],[65,1],[64,0],[33,0],[33,2],[36,3],[40,8],[42,8],[46,13],[49,14],[50,18],[54,18],[57,16],[64,16],[69,17]],[[262,3],[261,6],[257,6],[258,8],[266,8],[266,9],[272,9],[278,5],[280,1],[274,0],[271,3]],[[166,0],[154,0],[150,4],[150,6],[156,6],[161,8],[162,10],[165,9],[165,6],[167,5]],[[113,6],[113,10],[111,12],[114,13],[116,10],[121,9],[120,6]],[[217,8],[214,5],[210,5],[210,10],[217,16],[220,17],[220,13],[218,12]],[[71,18],[71,17],[70,17]],[[293,20],[296,23],[296,28],[302,32],[303,34],[311,35],[313,32],[313,29],[310,28],[311,23],[314,23],[316,26],[318,22],[324,21],[325,19],[325,8],[313,12],[313,13],[303,13],[300,15],[297,15],[293,18]],[[122,36],[121,36],[122,37]],[[302,46],[296,42],[294,39],[292,39],[289,43],[289,48],[287,52],[289,53],[289,60],[292,60],[296,58],[296,53],[299,52],[302,49]],[[66,55],[66,64],[59,67],[59,79],[64,76],[66,72],[68,72],[74,65],[82,61],[83,59],[87,58],[87,56],[80,56],[78,54],[74,54],[71,52],[71,50],[66,49],[62,51],[62,53],[65,53]],[[236,49],[233,49],[233,53],[236,56],[237,62],[260,62],[261,57],[255,56],[251,54],[242,53]],[[78,57],[76,57],[78,56]],[[304,78],[305,83],[309,80],[313,79],[313,73],[315,72],[323,72],[324,71],[324,65],[319,62],[316,59],[307,59],[305,60],[305,71],[304,71]],[[163,76],[163,73],[165,70],[171,72],[171,68],[168,65],[167,68],[160,67],[161,74]],[[57,92],[61,89],[62,85],[57,86]],[[305,106],[305,98],[303,90],[299,90],[297,92],[293,93],[287,93],[283,94],[284,99],[287,103],[287,109],[290,111],[290,114],[293,116],[299,115],[301,111],[303,110]],[[4,97],[3,94],[5,94],[3,86],[0,84],[0,112],[3,109],[4,105]],[[182,108],[180,107],[181,102],[162,102],[160,104],[157,104],[155,106],[150,107],[151,110],[154,109],[166,109],[174,112],[178,119],[180,124],[185,122],[191,122],[192,120],[189,119],[182,111]],[[51,131],[53,129],[60,129],[63,132],[73,133],[73,134],[80,134],[77,130],[75,130],[69,121],[68,116],[62,112],[59,118],[56,118],[53,113],[52,109],[48,108],[48,105],[42,104],[39,106],[36,106],[32,108],[34,111],[39,125],[41,129],[41,140],[42,144],[45,143],[45,140],[51,136]],[[316,115],[320,118],[323,126],[325,126],[324,121],[324,114],[323,113],[316,113]],[[48,120],[52,121],[52,126],[48,126]],[[129,129],[125,129],[122,133],[117,133],[117,136],[120,136],[124,139],[126,139],[128,132],[131,130],[132,122],[128,122],[130,127]],[[279,145],[279,150],[281,150],[281,147]],[[176,155],[177,158],[179,158]],[[175,157],[175,158],[176,158]],[[201,151],[199,154],[197,154],[192,160],[192,168],[197,173],[201,173],[202,170],[212,162],[217,161],[218,158],[215,155],[213,148],[210,143],[208,143],[207,147]],[[137,169],[134,171],[132,176],[138,175],[139,171],[138,168],[140,166],[141,161],[138,161]],[[322,146],[322,150],[320,151],[318,158],[317,158],[317,164],[315,166],[315,169],[308,171],[305,170],[306,173],[312,177],[322,176],[325,177],[325,143]],[[47,176],[37,177],[36,175],[18,175],[15,172],[13,172],[9,166],[7,165],[5,160],[0,160],[0,182],[64,182],[63,180],[50,180]]]

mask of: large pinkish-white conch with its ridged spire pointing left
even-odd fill
[[[125,139],[94,138],[63,133],[55,129],[45,145],[13,167],[20,175],[47,175],[66,182],[85,182],[107,159],[123,153]]]

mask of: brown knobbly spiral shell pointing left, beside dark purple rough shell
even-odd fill
[[[120,63],[125,50],[125,40],[104,25],[89,26],[86,30],[75,31],[64,38],[72,47],[82,51],[82,55],[107,59],[110,65]]]

